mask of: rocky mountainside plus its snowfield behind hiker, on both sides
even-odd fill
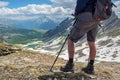
[[[52,55],[57,55],[60,50],[65,36],[67,35],[69,28],[72,24],[72,19],[66,19],[61,24],[67,24],[66,26],[58,26],[53,30],[46,32],[46,44],[42,47],[36,46],[34,51],[43,51]],[[68,23],[70,24],[68,24]],[[120,62],[119,57],[119,38],[120,38],[120,19],[113,14],[113,16],[102,22],[103,28],[99,28],[97,34],[96,46],[97,46],[97,62],[108,61],[108,62]],[[68,26],[69,25],[69,26]],[[55,32],[55,33],[54,33]],[[68,59],[67,44],[63,48],[60,57]],[[85,62],[88,60],[89,48],[86,42],[86,36],[82,38],[78,43],[75,44],[75,61]]]

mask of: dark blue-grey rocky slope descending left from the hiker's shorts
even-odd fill
[[[69,28],[72,25],[73,19],[66,18],[64,21],[62,21],[56,28],[47,31],[44,34],[45,39],[51,40],[53,38],[64,36],[67,34],[67,28]]]

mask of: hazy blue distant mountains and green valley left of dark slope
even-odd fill
[[[54,29],[57,22],[44,16],[33,20],[11,20],[0,18],[0,41],[23,44],[42,40],[47,30]]]

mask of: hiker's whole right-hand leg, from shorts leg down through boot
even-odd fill
[[[88,61],[88,65],[82,68],[82,71],[88,74],[94,74],[94,60],[96,56],[96,45],[95,45],[96,33],[97,33],[97,28],[94,28],[87,33],[87,41],[90,49],[89,61]]]

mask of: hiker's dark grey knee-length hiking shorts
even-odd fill
[[[87,34],[87,41],[95,42],[98,24],[98,21],[92,19],[92,13],[86,12],[79,14],[70,31],[69,39],[73,42],[77,42],[81,37]]]

